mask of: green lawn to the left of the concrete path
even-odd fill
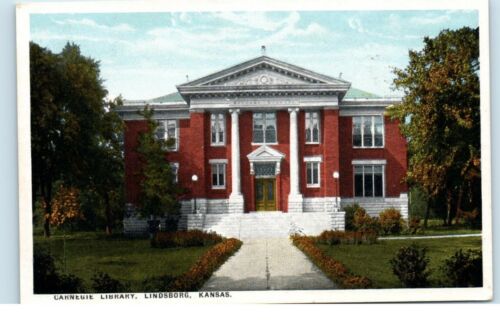
[[[92,276],[101,271],[128,283],[134,292],[142,292],[145,278],[161,275],[178,276],[186,272],[211,246],[190,248],[151,248],[148,239],[122,236],[106,237],[95,232],[78,232],[49,239],[34,236],[35,245],[47,248],[59,271],[75,274],[91,288]],[[66,263],[64,263],[64,251]],[[65,268],[66,266],[66,268]]]

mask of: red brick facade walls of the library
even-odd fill
[[[406,173],[406,141],[401,136],[396,121],[384,119],[384,148],[355,149],[352,146],[352,117],[340,116],[338,107],[328,107],[320,112],[321,131],[319,144],[305,143],[305,113],[298,115],[300,192],[304,198],[311,197],[353,197],[353,166],[355,159],[386,160],[385,196],[399,197],[407,192],[402,181]],[[277,210],[286,212],[290,192],[289,135],[290,121],[286,108],[275,110],[277,118],[277,145],[269,145],[285,155],[281,162],[281,172],[276,176]],[[225,146],[212,146],[210,142],[210,112],[191,112],[188,119],[179,119],[179,148],[169,152],[166,159],[179,163],[178,180],[187,191],[183,199],[206,198],[227,199],[231,194],[231,117],[225,114]],[[255,177],[250,174],[247,155],[260,145],[252,145],[252,110],[239,115],[241,189],[245,200],[245,212],[255,211]],[[135,151],[140,132],[146,123],[140,120],[127,120],[125,131],[125,183],[126,198],[129,203],[137,203],[140,183],[140,162]],[[320,187],[306,186],[306,156],[321,156]],[[210,159],[227,159],[225,189],[212,189]],[[339,185],[333,178],[339,171]],[[198,175],[196,183],[191,181],[193,174]]]

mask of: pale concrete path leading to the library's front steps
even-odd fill
[[[251,239],[205,283],[202,291],[335,289],[289,239]]]

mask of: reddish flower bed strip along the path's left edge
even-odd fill
[[[238,249],[242,242],[238,239],[226,239],[207,251],[196,264],[173,282],[170,291],[196,291],[210,278],[229,257]]]

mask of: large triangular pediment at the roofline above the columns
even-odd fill
[[[258,57],[208,76],[180,85],[185,86],[251,86],[251,85],[317,85],[349,86],[350,83],[304,69],[267,56]]]

